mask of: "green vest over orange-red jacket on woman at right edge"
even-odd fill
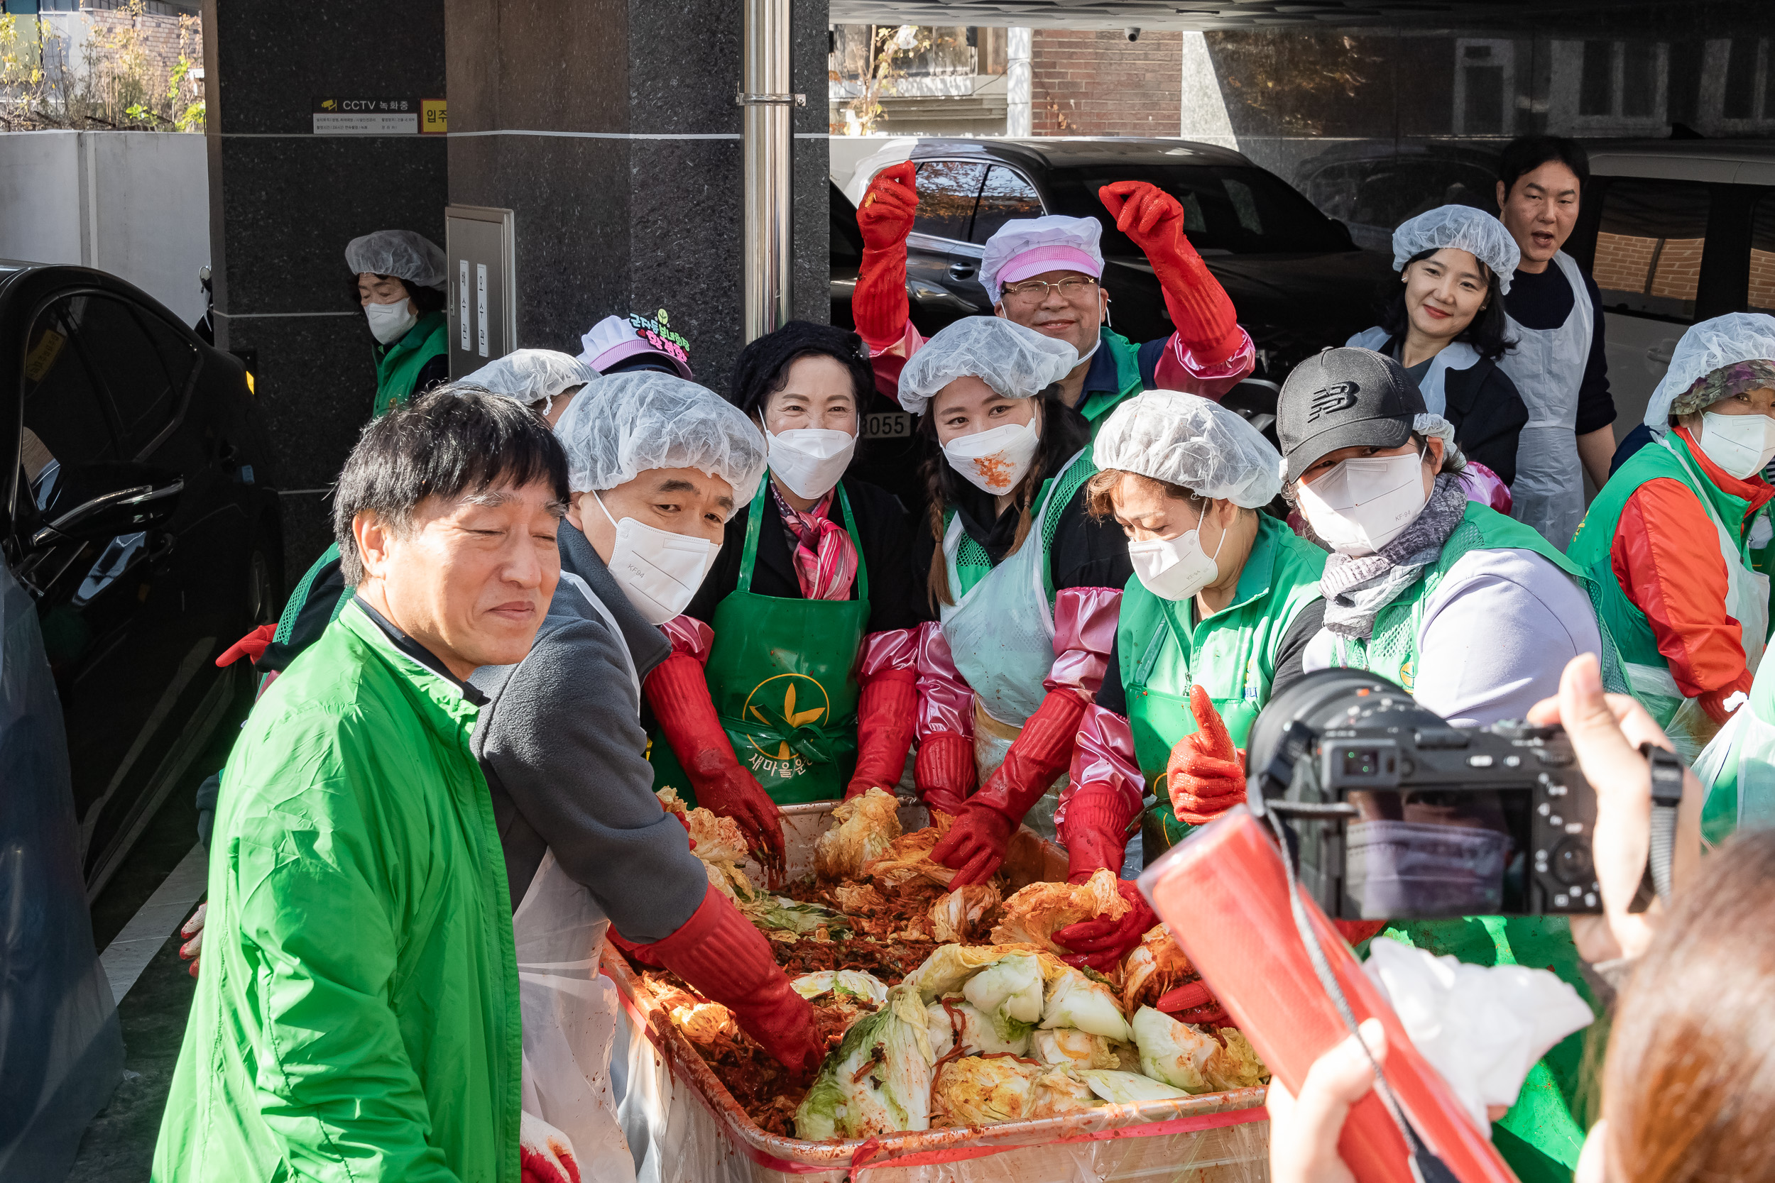
[[[1647,443],[1635,452],[1613,477],[1608,479],[1603,491],[1596,495],[1594,502],[1590,502],[1590,511],[1583,516],[1578,534],[1573,536],[1569,553],[1573,562],[1583,568],[1592,584],[1601,589],[1598,615],[1608,628],[1610,637],[1613,637],[1615,646],[1619,646],[1629,692],[1651,713],[1660,727],[1668,729],[1670,720],[1683,706],[1683,692],[1670,676],[1668,660],[1658,651],[1658,637],[1653,633],[1651,621],[1645,619],[1645,614],[1640,612],[1638,605],[1628,599],[1628,594],[1621,589],[1621,580],[1615,578],[1610,550],[1615,543],[1621,513],[1626,509],[1628,498],[1633,497],[1642,484],[1658,479],[1679,482],[1704,505],[1711,507],[1713,513],[1718,514],[1720,521],[1743,523],[1745,513],[1750,509],[1750,502],[1741,497],[1732,497],[1708,481],[1702,475],[1702,468],[1695,459],[1693,449],[1690,449],[1683,436],[1672,431],[1665,436],[1665,440],[1670,449],[1660,447],[1658,443]],[[1681,454],[1681,459],[1672,456],[1672,449]],[[1684,468],[1684,463],[1688,468]],[[1761,569],[1755,560],[1766,560],[1770,555],[1754,555],[1748,544],[1748,529],[1740,527],[1738,560],[1747,568]],[[1715,539],[1706,541],[1713,543]],[[1731,559],[1727,559],[1727,562],[1731,562]]]

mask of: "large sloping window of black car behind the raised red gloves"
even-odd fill
[[[1047,174],[1053,213],[1095,216],[1106,255],[1138,255],[1115,229],[1097,190],[1111,181],[1150,181],[1184,208],[1184,234],[1196,250],[1298,254],[1351,250],[1335,222],[1274,174],[1248,167],[1079,165]]]

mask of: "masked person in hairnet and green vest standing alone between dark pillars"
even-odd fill
[[[382,415],[417,390],[449,381],[444,316],[444,252],[424,234],[376,231],[344,245],[351,291],[376,339],[376,403]]]

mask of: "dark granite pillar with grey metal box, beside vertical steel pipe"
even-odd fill
[[[449,197],[515,211],[518,344],[671,314],[717,390],[742,341],[735,0],[451,0]],[[827,319],[825,4],[793,0],[795,316]]]

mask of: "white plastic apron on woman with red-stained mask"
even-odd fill
[[[1060,466],[1065,474],[1079,456]],[[943,639],[950,642],[955,670],[974,692],[974,764],[982,784],[1005,763],[1012,741],[1042,706],[1042,681],[1054,669],[1054,605],[1047,599],[1047,550],[1042,546],[1047,511],[1053,509],[1060,474],[1047,500],[1035,514],[1017,553],[992,568],[953,605],[943,605]],[[950,587],[960,587],[955,555],[962,546],[962,516],[950,520],[943,560]],[[987,718],[982,720],[980,715]],[[1056,784],[1065,786],[1065,777]],[[1049,791],[1024,821],[1042,837],[1054,837],[1058,793]]]

